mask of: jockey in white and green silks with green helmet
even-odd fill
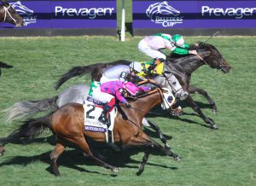
[[[175,55],[197,55],[196,50],[189,50],[189,44],[186,44],[183,37],[179,34],[171,36],[166,33],[157,33],[153,36],[148,36],[143,38],[138,44],[140,52],[154,59],[151,67],[148,67],[148,73],[161,62],[166,61],[166,55],[160,49],[170,49],[172,54]]]

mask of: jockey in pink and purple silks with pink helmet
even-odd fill
[[[131,94],[131,96],[135,96],[138,91],[147,91],[147,90],[150,90],[150,88],[137,87],[135,84],[132,84],[131,82],[116,80],[116,81],[108,81],[104,84],[101,84],[102,94],[97,94],[96,92],[92,93],[93,98],[103,103],[107,103],[104,105],[102,114],[99,117],[99,121],[101,121],[103,124],[110,125],[107,119],[107,115],[108,115],[108,112],[115,105],[116,99],[119,100],[119,102],[125,103],[127,108],[131,108],[131,105],[127,102],[127,100],[123,96],[123,92],[125,90],[127,90],[127,92]]]

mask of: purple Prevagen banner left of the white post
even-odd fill
[[[116,30],[115,0],[27,0],[9,1],[9,4],[25,20],[25,26],[15,28],[0,23],[0,29],[63,28],[90,29],[113,28]]]

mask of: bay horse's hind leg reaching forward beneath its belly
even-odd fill
[[[114,166],[110,166],[107,163],[105,163],[104,161],[96,158],[96,156],[91,152],[88,143],[85,141],[84,136],[69,137],[69,138],[66,138],[66,139],[70,142],[73,142],[77,146],[79,146],[79,148],[81,148],[84,151],[84,153],[88,154],[90,159],[95,160],[96,163],[99,164],[100,166],[103,166],[107,169],[110,169],[111,171],[113,171],[113,173],[118,172],[118,168],[116,168]]]

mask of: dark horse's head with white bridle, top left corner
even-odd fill
[[[14,24],[17,27],[24,25],[24,20],[18,15],[15,9],[9,4],[3,1],[0,5],[0,22],[7,22]]]

